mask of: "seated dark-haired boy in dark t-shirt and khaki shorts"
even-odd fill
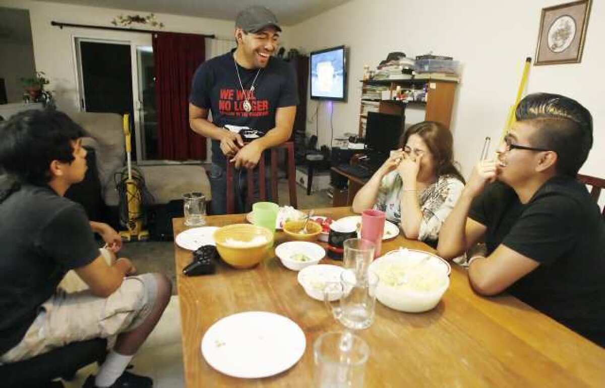
[[[163,274],[130,276],[136,269],[124,257],[108,265],[93,231],[114,251],[119,234],[89,222],[82,206],[63,197],[87,170],[83,136],[57,111],[21,112],[0,126],[7,173],[0,187],[0,363],[117,336],[84,386],[151,387],[150,378],[124,370],[162,316],[171,283]],[[57,289],[71,269],[87,291]]]

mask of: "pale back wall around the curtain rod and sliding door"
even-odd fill
[[[44,71],[49,77],[51,84],[47,86],[47,89],[56,91],[57,106],[60,109],[71,110],[78,106],[79,96],[77,92],[77,73],[74,65],[73,36],[114,40],[140,40],[143,36],[146,36],[149,44],[151,44],[150,35],[67,27],[61,30],[50,25],[51,21],[59,21],[113,27],[111,20],[120,14],[144,15],[145,12],[31,0],[3,0],[2,6],[30,11],[36,68]],[[155,15],[159,21],[164,23],[163,30],[165,31],[215,34],[217,37],[231,37],[234,32],[234,21],[163,13],[156,13]],[[284,42],[285,34],[284,29]]]

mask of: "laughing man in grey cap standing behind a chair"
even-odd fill
[[[234,184],[236,207],[243,211],[246,169],[258,164],[262,152],[284,143],[292,134],[298,104],[296,75],[289,63],[272,57],[281,28],[264,7],[248,7],[235,21],[237,48],[204,62],[195,71],[189,97],[191,129],[212,139],[211,211],[226,213],[226,163],[241,169]],[[212,121],[208,114],[212,112]],[[264,136],[244,144],[226,125],[246,126]]]

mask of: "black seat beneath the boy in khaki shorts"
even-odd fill
[[[0,366],[0,386],[19,388],[47,387],[56,378],[71,380],[78,369],[106,355],[107,340],[92,340],[70,343],[48,353],[16,363]]]

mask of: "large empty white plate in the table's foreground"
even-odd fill
[[[225,375],[261,378],[292,367],[306,346],[304,332],[289,318],[247,311],[215,322],[201,340],[201,354]]]

